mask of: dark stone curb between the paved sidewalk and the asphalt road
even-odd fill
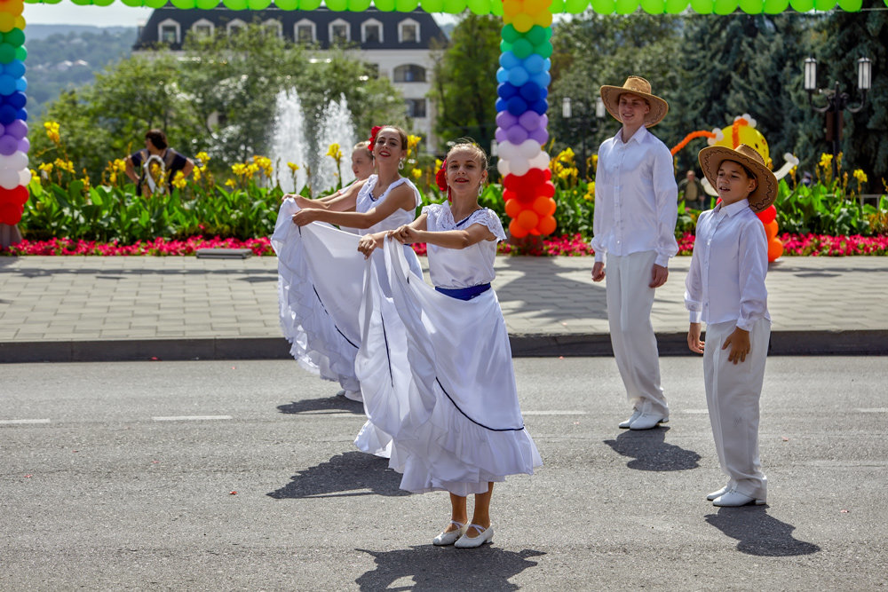
[[[705,336],[705,335],[704,335]],[[685,333],[659,333],[662,356],[694,355]],[[611,356],[607,334],[511,335],[516,358]],[[888,330],[775,331],[773,356],[884,356]],[[282,337],[220,337],[203,339],[105,339],[0,343],[0,363],[173,361],[187,359],[289,359]]]

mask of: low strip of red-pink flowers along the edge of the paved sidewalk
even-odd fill
[[[790,234],[780,235],[783,243],[783,255],[813,257],[846,257],[854,255],[888,255],[888,236],[829,236],[826,234]],[[138,241],[131,245],[119,245],[116,242],[101,243],[96,241],[71,241],[69,239],[52,239],[50,241],[21,241],[9,249],[0,249],[0,255],[99,255],[99,256],[131,256],[151,255],[159,257],[194,255],[197,249],[251,249],[253,254],[261,257],[274,256],[271,242],[267,238],[240,241],[238,239],[205,238],[194,236],[184,241],[173,241],[157,238],[154,241]],[[413,246],[420,257],[426,255],[425,243]],[[678,239],[678,254],[690,255],[694,249],[694,234],[684,233]],[[595,252],[588,241],[580,234],[545,238],[531,246],[516,247],[508,242],[501,242],[500,255],[527,255],[532,257],[588,257]]]

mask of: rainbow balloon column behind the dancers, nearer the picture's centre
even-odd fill
[[[544,236],[555,230],[555,185],[549,154],[551,0],[503,0],[503,41],[496,100],[496,141],[509,233]]]

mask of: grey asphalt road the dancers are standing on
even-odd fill
[[[444,493],[357,452],[361,407],[292,361],[4,365],[0,588],[884,589],[888,359],[769,359],[769,505],[723,485],[699,359],[668,428],[618,430],[613,359],[517,359],[545,466],[497,485],[494,544],[431,545]],[[470,506],[471,507],[471,506]]]

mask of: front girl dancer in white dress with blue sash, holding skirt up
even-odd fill
[[[436,545],[490,541],[494,482],[543,464],[524,428],[509,335],[490,288],[505,233],[478,203],[486,169],[480,147],[457,144],[442,165],[452,205],[427,206],[412,224],[365,235],[359,244],[368,257],[385,252],[392,297],[379,274],[365,274],[355,370],[369,421],[355,444],[370,453],[385,447],[389,466],[403,474],[402,489],[450,493],[451,522]],[[413,242],[428,244],[435,288],[409,273],[400,243]]]

